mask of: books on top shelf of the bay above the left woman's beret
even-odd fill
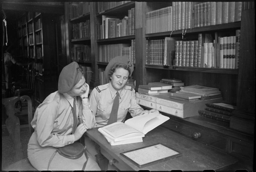
[[[71,2],[69,4],[69,19],[83,16],[90,12],[89,2]]]

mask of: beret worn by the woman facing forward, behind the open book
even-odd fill
[[[108,73],[109,71],[115,66],[115,65],[120,65],[120,64],[124,64],[129,66],[129,68],[131,69],[131,73],[130,76],[132,75],[132,72],[134,70],[134,66],[133,63],[130,61],[130,59],[128,59],[127,57],[123,57],[123,56],[117,56],[113,59],[111,59],[105,69],[105,77],[108,78]]]

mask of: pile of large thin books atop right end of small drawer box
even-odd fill
[[[190,85],[181,87],[180,92],[200,95],[200,100],[208,100],[222,97],[218,88],[205,87],[202,85]]]

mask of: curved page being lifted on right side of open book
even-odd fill
[[[158,115],[160,115],[160,113],[144,113],[143,115],[127,119],[124,123],[143,133],[143,127],[146,122],[157,117]]]

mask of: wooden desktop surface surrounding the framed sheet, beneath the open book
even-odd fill
[[[238,161],[233,156],[198,143],[162,126],[158,126],[154,130],[148,132],[141,143],[117,146],[111,146],[103,135],[98,132],[98,128],[87,130],[85,134],[100,146],[101,153],[106,158],[109,160],[115,159],[113,164],[119,170],[124,171],[222,170],[228,169],[229,165],[232,165]],[[144,168],[137,167],[128,159],[120,155],[121,152],[142,148],[156,143],[162,143],[169,146],[177,151],[180,151],[183,153],[183,155]]]

